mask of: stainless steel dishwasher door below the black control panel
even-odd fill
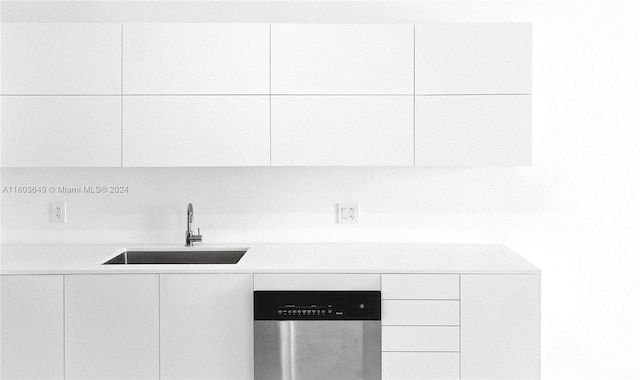
[[[379,380],[380,321],[254,321],[256,380]]]

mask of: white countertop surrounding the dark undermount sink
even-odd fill
[[[249,247],[249,250],[238,264],[100,265],[122,252],[125,247],[180,248],[178,245],[2,245],[0,274],[540,272],[537,267],[504,245],[493,244],[200,245],[190,249]]]

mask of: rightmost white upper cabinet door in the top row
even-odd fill
[[[531,24],[416,25],[416,94],[531,93]]]

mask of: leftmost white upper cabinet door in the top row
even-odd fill
[[[2,24],[3,94],[120,94],[120,24]]]

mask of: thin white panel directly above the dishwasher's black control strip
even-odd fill
[[[380,275],[256,274],[253,290],[380,290]]]

